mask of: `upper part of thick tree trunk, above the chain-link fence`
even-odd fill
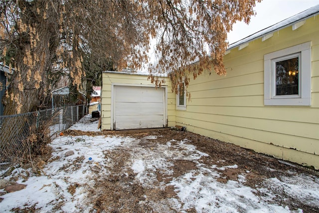
[[[29,29],[28,34],[20,33],[19,43],[16,45],[18,51],[15,56],[15,70],[2,101],[4,115],[35,111],[40,98],[45,95],[47,71],[52,66],[59,38],[55,10],[51,4],[46,3],[47,1],[19,1],[21,10],[25,10],[20,18],[23,23],[29,24]],[[37,8],[43,9],[46,17],[37,14]]]

